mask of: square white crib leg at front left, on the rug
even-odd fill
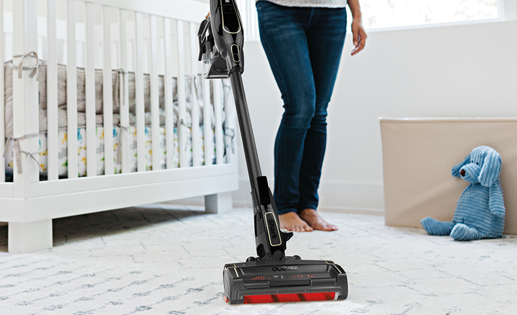
[[[52,248],[52,219],[9,222],[7,244],[12,254]]]

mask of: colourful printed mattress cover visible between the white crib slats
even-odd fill
[[[187,144],[185,148],[185,153],[187,154],[187,161],[190,161],[190,166],[192,166],[192,132],[189,130],[189,137],[187,139]],[[213,131],[213,130],[212,130]],[[125,129],[121,129],[118,127],[113,128],[113,164],[115,174],[121,172],[121,161],[122,154],[120,150],[120,141],[121,133],[128,133],[129,136],[129,158],[130,161],[130,171],[136,171],[137,168],[137,151],[136,151],[136,127],[130,127],[129,131]],[[203,126],[200,126],[200,137],[197,139],[200,147],[203,148],[201,153],[201,165],[205,164],[205,153],[204,153],[204,133]],[[95,132],[95,143],[96,143],[96,165],[97,165],[97,175],[104,174],[104,128],[96,127]],[[156,154],[159,155],[159,164],[157,166],[153,166],[153,146],[151,141],[151,128],[145,127],[145,169],[165,169],[167,167],[166,163],[166,141],[165,141],[165,128],[160,127],[159,138],[159,150]],[[58,129],[58,174],[60,177],[67,177],[68,175],[68,137],[66,128]],[[212,141],[215,144],[215,135],[212,137]],[[77,129],[77,143],[78,143],[78,176],[84,177],[86,176],[86,128],[78,128]],[[177,129],[174,128],[174,167],[179,167],[179,146],[178,146],[178,132]],[[47,132],[39,133],[39,166],[40,166],[40,175],[43,177],[47,176],[47,168],[48,168],[48,156],[47,156]],[[215,151],[211,152],[211,156],[209,156],[208,164],[213,164],[216,159]],[[6,178],[12,178],[13,175],[13,148],[11,146],[6,147]]]

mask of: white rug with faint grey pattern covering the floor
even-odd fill
[[[33,254],[8,254],[0,226],[0,314],[517,313],[517,237],[455,242],[338,213],[324,213],[338,231],[296,233],[287,254],[344,267],[347,300],[227,305],[222,267],[255,254],[252,210],[160,207],[55,219],[54,247]]]

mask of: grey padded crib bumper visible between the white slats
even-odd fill
[[[12,135],[12,75],[13,65],[12,60],[4,64],[4,88],[5,88],[5,135],[6,137]],[[112,70],[112,89],[113,89],[113,125],[118,125],[120,121],[120,91],[124,90],[124,76],[128,76],[128,94],[129,94],[129,124],[134,125],[136,122],[136,105],[135,105],[135,74],[134,72],[124,72],[123,70]],[[201,75],[187,75],[186,80],[186,117],[184,123],[191,125],[192,117],[192,103],[191,103],[191,88],[194,88],[194,94],[197,96],[197,103],[203,104],[203,93],[201,92]],[[173,111],[174,124],[177,124],[178,119],[178,101],[177,101],[177,78],[173,77]],[[40,60],[38,68],[38,85],[39,85],[39,131],[47,131],[47,62]],[[102,70],[95,70],[95,110],[96,110],[96,124],[101,126],[103,124],[103,94],[102,94]],[[67,126],[67,95],[66,95],[66,66],[57,66],[57,106],[58,106],[58,128]],[[159,91],[159,119],[160,125],[165,124],[165,96],[163,75],[158,78]],[[213,92],[211,98],[213,98]],[[223,93],[221,93],[222,95]],[[224,103],[224,100],[222,100]],[[144,74],[144,111],[145,111],[145,125],[151,124],[151,101],[150,101],[150,76]],[[212,128],[215,125],[214,108],[210,105],[210,124]],[[204,124],[203,106],[199,106],[199,124]],[[86,124],[86,93],[85,93],[85,69],[77,68],[77,111],[78,111],[78,125]],[[222,114],[222,121],[224,122],[224,111]]]

